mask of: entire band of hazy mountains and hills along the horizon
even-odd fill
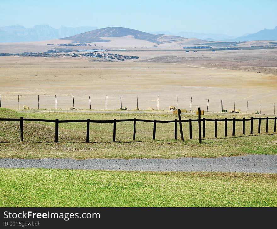
[[[83,26],[70,28],[61,26],[59,29],[55,29],[49,25],[35,25],[32,28],[25,28],[22,25],[11,25],[0,27],[0,43],[9,42],[30,42],[30,41],[41,41],[41,40],[52,40],[57,38],[68,39],[69,37],[76,43],[86,42],[103,42],[100,37],[109,36],[126,36],[133,35],[136,39],[148,40],[154,43],[162,43],[159,40],[161,35],[171,35],[172,40],[180,40],[182,38],[198,38],[201,40],[210,41],[251,41],[251,40],[277,40],[277,26],[274,29],[263,29],[254,34],[247,36],[235,37],[224,35],[220,33],[196,33],[196,32],[178,32],[172,33],[170,31],[153,31],[150,33],[141,32],[135,29],[122,28],[120,30],[114,28],[122,27],[107,27],[98,30],[97,27]],[[88,32],[85,37],[82,33]],[[93,39],[92,39],[93,38]],[[169,39],[169,36],[166,38]],[[108,40],[106,40],[108,41]]]

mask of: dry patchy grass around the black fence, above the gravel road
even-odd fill
[[[113,120],[140,118],[150,120],[174,120],[172,114],[101,114],[85,112],[31,112],[20,113],[0,108],[0,117],[43,119],[97,119]],[[222,115],[205,115],[206,118],[225,118]],[[233,115],[228,115],[232,118]],[[238,116],[236,116],[238,117]],[[196,119],[185,114],[183,119]],[[241,118],[241,116],[240,116]],[[174,140],[174,124],[157,124],[156,141],[152,140],[153,124],[137,122],[136,141],[133,141],[133,123],[117,123],[116,141],[112,142],[112,124],[90,125],[90,141],[84,143],[86,123],[59,124],[59,143],[54,143],[54,123],[24,122],[24,141],[19,142],[19,122],[1,122],[0,157],[16,158],[176,158],[218,157],[244,154],[277,154],[277,135],[273,132],[273,120],[269,121],[269,134],[265,135],[265,120],[262,120],[262,135],[242,136],[242,122],[236,124],[236,137],[232,137],[232,123],[228,123],[228,138],[224,138],[224,122],[218,122],[218,139],[214,139],[214,123],[206,122],[206,139],[197,140],[198,126],[193,123],[193,140],[189,140],[188,123],[183,123],[185,142]],[[179,131],[179,130],[178,130]],[[250,135],[250,122],[246,122],[246,135]],[[257,120],[254,121],[257,133]],[[178,138],[180,138],[178,132]]]

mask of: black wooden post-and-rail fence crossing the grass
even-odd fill
[[[179,110],[178,110],[179,111]],[[200,113],[201,114],[201,113]],[[205,133],[206,133],[206,122],[214,122],[214,136],[217,138],[217,123],[218,122],[224,122],[224,136],[227,137],[227,122],[231,121],[233,123],[233,128],[232,128],[232,136],[235,136],[235,126],[236,122],[242,122],[242,134],[245,134],[245,122],[246,121],[251,121],[251,126],[250,126],[250,133],[253,134],[253,120],[259,120],[258,121],[258,133],[261,133],[261,120],[266,120],[266,128],[265,132],[268,133],[268,122],[269,120],[274,120],[274,132],[276,132],[276,117],[275,118],[242,118],[242,119],[206,119],[199,118],[198,119],[188,119],[188,120],[181,120],[180,114],[179,114],[179,120],[169,120],[169,121],[162,121],[162,120],[145,120],[145,119],[114,119],[114,120],[90,120],[90,119],[81,119],[81,120],[48,120],[48,119],[28,119],[23,117],[20,117],[19,119],[10,119],[10,118],[0,118],[0,121],[19,121],[20,122],[20,142],[23,141],[23,120],[24,121],[37,121],[37,122],[54,122],[55,123],[55,141],[58,142],[58,135],[59,135],[59,123],[70,123],[70,122],[86,122],[87,123],[87,135],[86,135],[86,142],[89,142],[89,126],[90,123],[113,123],[113,141],[116,141],[116,123],[117,122],[133,122],[133,140],[136,139],[136,122],[152,122],[153,123],[153,139],[155,140],[156,136],[156,123],[174,123],[174,139],[177,139],[177,122],[180,124],[180,134],[181,134],[181,139],[184,141],[183,137],[183,129],[182,129],[182,123],[183,122],[189,122],[189,139],[192,139],[192,122],[198,122],[199,126],[199,142],[201,143],[201,137],[205,138]],[[201,136],[201,123],[203,125],[203,133]]]

